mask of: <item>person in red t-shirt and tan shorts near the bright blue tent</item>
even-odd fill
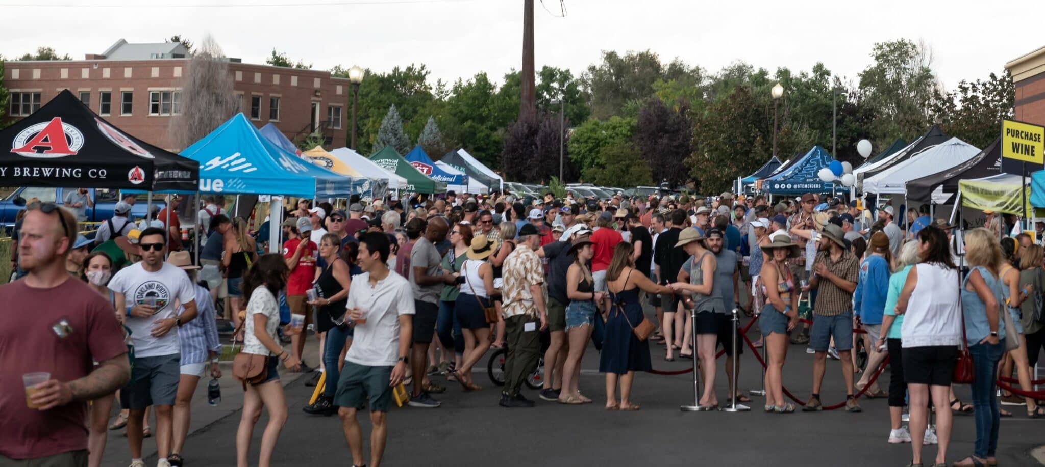
[[[312,314],[308,313],[308,304],[305,301],[308,297],[305,291],[312,288],[312,279],[316,278],[316,252],[319,247],[308,240],[312,232],[312,221],[307,217],[298,219],[297,228],[291,227],[294,236],[283,244],[283,257],[286,259],[286,267],[291,268],[291,276],[286,279],[286,305],[291,308],[291,313],[304,315],[305,324],[300,333],[291,335],[291,351],[294,358],[301,365],[301,372],[312,371],[312,368],[305,365],[301,360],[301,352],[305,348],[305,336],[308,324],[312,322]]]

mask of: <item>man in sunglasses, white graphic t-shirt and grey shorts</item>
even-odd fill
[[[156,449],[166,466],[170,453],[173,419],[171,411],[181,374],[181,343],[178,327],[196,316],[195,286],[185,271],[163,262],[166,230],[146,228],[139,237],[141,262],[121,269],[109,281],[109,289],[126,300],[126,326],[134,341],[135,360],[131,380],[120,391],[127,417],[131,467],[144,467],[141,460],[145,408],[156,409]],[[177,314],[175,300],[184,312]]]

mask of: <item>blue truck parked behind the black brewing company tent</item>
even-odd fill
[[[62,204],[65,195],[75,188],[42,188],[42,187],[21,187],[14,193],[0,200],[0,226],[9,235],[10,228],[15,225],[15,216],[25,206],[25,201],[31,198],[39,198],[43,202],[54,202]],[[87,208],[88,222],[104,222],[113,217],[113,210],[120,200],[119,191],[104,189],[88,189],[91,199],[94,200],[94,207]],[[137,195],[134,207],[131,208],[132,219],[142,219],[145,217],[147,194]],[[164,195],[154,194],[153,204],[163,207]]]

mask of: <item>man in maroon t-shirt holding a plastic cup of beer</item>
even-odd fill
[[[28,274],[0,286],[0,465],[86,466],[87,401],[131,377],[113,305],[66,272],[75,235],[72,213],[31,208],[18,245]],[[48,374],[26,400],[22,377],[34,372]]]

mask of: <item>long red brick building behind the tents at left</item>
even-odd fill
[[[173,147],[167,129],[170,117],[181,110],[188,66],[181,44],[129,44],[122,39],[83,60],[5,62],[4,85],[10,92],[6,119],[27,116],[67,89],[117,127],[177,152],[183,148]],[[272,122],[295,143],[318,129],[328,148],[347,145],[347,78],[237,58],[229,58],[229,74],[240,112],[257,127]]]

